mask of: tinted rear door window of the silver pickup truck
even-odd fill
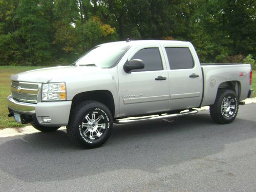
[[[165,48],[170,69],[191,69],[194,60],[188,48]]]

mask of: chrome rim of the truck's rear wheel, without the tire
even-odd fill
[[[234,98],[224,97],[221,103],[221,114],[225,117],[233,117],[236,115],[237,102]]]

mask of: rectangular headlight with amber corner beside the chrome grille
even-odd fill
[[[66,100],[65,82],[42,84],[42,101]]]

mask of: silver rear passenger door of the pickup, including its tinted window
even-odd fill
[[[169,110],[200,105],[203,93],[202,70],[194,48],[165,46],[168,61]],[[191,54],[192,53],[192,54]]]

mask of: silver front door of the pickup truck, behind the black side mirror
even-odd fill
[[[169,79],[162,57],[163,52],[158,44],[140,46],[130,54],[128,60],[143,60],[144,69],[125,73],[123,66],[119,67],[120,116],[168,109]]]

